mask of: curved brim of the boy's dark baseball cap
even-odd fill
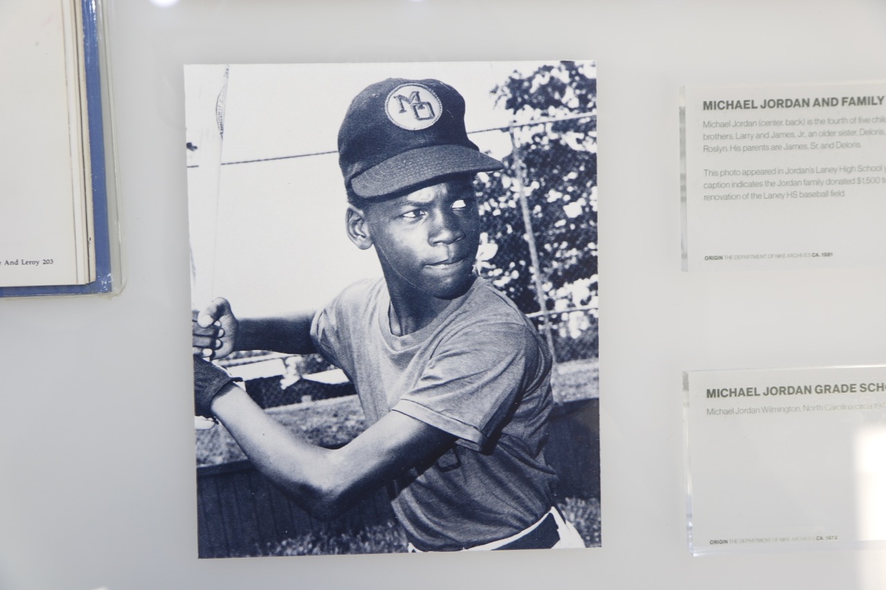
[[[385,197],[445,176],[492,172],[503,167],[497,159],[462,145],[431,145],[404,151],[369,168],[351,180],[351,190],[362,198]]]

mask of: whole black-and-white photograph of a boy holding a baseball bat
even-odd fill
[[[198,555],[600,547],[595,63],[184,79]]]

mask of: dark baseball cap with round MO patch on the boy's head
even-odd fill
[[[346,188],[361,198],[503,167],[468,139],[456,89],[403,78],[371,84],[351,102],[338,129],[338,165]]]

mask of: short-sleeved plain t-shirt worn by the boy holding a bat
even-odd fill
[[[545,462],[550,355],[538,331],[477,279],[421,330],[394,336],[384,280],[361,281],[315,315],[317,349],[354,382],[369,424],[390,411],[458,438],[393,486],[392,506],[423,551],[500,540],[551,507]]]

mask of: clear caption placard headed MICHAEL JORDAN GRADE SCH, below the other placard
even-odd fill
[[[691,371],[689,548],[886,540],[886,367]]]

